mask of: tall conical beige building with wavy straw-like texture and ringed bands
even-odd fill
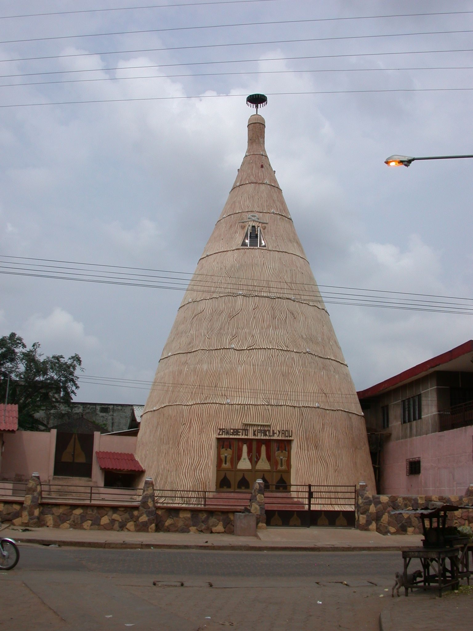
[[[365,420],[264,147],[248,149],[180,305],[141,416],[137,458],[161,489],[262,478],[375,489]]]

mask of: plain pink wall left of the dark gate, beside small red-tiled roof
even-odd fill
[[[40,480],[50,480],[54,468],[56,430],[50,432],[4,433],[0,477],[4,480],[29,480],[33,472]]]

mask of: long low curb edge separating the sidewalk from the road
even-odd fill
[[[143,543],[141,541],[64,541],[57,539],[15,538],[16,543],[32,543],[41,546],[60,548],[102,548],[106,550],[218,550],[240,552],[399,552],[409,550],[408,546],[252,546],[247,543],[235,545],[214,545],[213,543]]]

